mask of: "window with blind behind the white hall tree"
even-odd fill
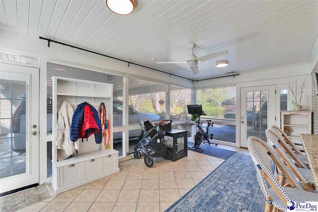
[[[52,76],[62,76],[75,79],[85,79],[107,82],[113,86],[113,126],[122,126],[123,122],[123,93],[124,77],[109,73],[78,69],[69,66],[47,63],[47,134],[52,134]]]

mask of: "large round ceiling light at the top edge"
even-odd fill
[[[106,0],[107,7],[119,15],[128,15],[135,9],[134,0]]]

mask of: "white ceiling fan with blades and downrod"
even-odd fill
[[[195,56],[193,54],[193,49],[196,46],[195,43],[189,44],[189,48],[191,49],[191,55],[189,57],[189,60],[187,61],[182,61],[182,62],[157,62],[157,64],[178,64],[178,63],[186,63],[190,66],[191,70],[193,71],[193,73],[199,73],[199,69],[198,69],[198,62],[204,62],[204,61],[208,61],[208,60],[212,60],[214,58],[219,58],[219,57],[223,57],[223,56],[227,56],[228,55],[228,51],[222,51],[222,52],[217,52],[217,53],[213,53],[210,55],[205,55],[202,57],[197,58],[197,56]]]

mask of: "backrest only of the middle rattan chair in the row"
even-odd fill
[[[282,141],[280,140],[279,136],[277,134],[275,134],[272,130],[266,130],[265,133],[266,133],[267,140],[270,140],[274,144],[273,147],[275,148],[275,150],[277,151],[279,156],[284,160],[286,165],[291,169],[291,171],[295,174],[295,176],[299,179],[299,181],[304,181],[305,183],[310,183],[310,181],[305,177],[305,175],[295,165],[291,156],[285,151],[285,149],[281,145]]]

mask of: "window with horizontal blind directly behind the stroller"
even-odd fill
[[[129,77],[129,124],[141,119],[159,121],[166,118],[167,85]]]

